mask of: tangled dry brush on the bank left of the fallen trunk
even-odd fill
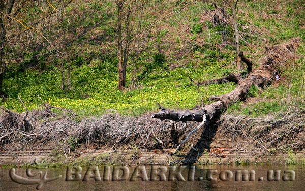
[[[130,117],[112,113],[79,119],[73,112],[49,104],[28,114],[2,110],[0,150],[54,149],[59,145],[70,149],[71,144],[163,149],[175,146],[185,137],[182,128],[192,128],[192,125],[151,119],[150,115]]]

